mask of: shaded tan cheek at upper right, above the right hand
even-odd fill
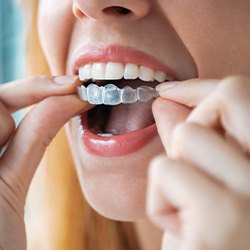
[[[249,75],[249,1],[163,0],[161,6],[193,56],[199,77]]]

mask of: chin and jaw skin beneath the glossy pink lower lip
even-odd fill
[[[78,126],[79,118],[75,117],[67,126],[67,135],[87,202],[112,220],[144,218],[148,166],[153,157],[164,151],[159,136],[133,153],[103,156],[88,149]]]

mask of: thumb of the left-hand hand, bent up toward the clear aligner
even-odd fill
[[[6,182],[19,189],[25,197],[44,151],[57,131],[72,116],[85,112],[90,107],[90,104],[73,95],[49,97],[37,104],[24,117],[0,159],[2,178],[8,179]]]

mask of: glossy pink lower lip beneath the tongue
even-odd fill
[[[81,126],[83,128],[82,140],[88,152],[103,157],[125,156],[135,153],[157,136],[157,128],[153,124],[127,134],[101,137],[88,128],[86,113],[81,117]]]

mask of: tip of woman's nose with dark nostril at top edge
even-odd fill
[[[150,11],[150,0],[73,0],[73,13],[78,19],[88,17],[105,21],[114,17],[141,19]]]

